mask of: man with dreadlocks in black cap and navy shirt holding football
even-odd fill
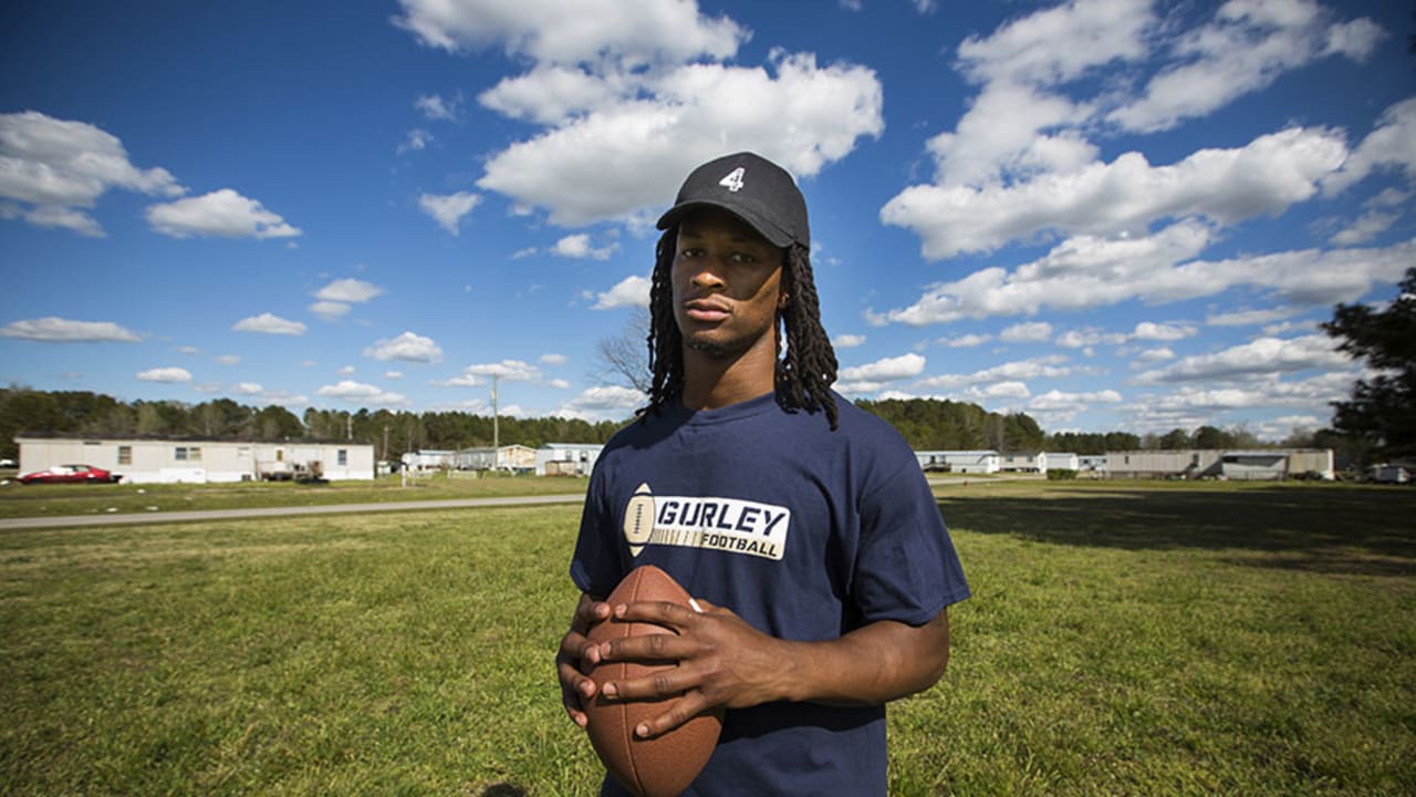
[[[603,696],[684,695],[641,737],[726,709],[690,794],[885,794],[885,703],[943,675],[947,606],[969,596],[939,508],[899,434],[830,390],[790,174],[752,153],[712,160],[658,228],[650,404],[590,478],[571,564],[583,594],[556,655],[566,712],[585,725],[593,662],[678,661]],[[650,528],[626,523],[646,496]],[[702,611],[600,603],[640,564]],[[678,635],[589,647],[612,613]],[[623,791],[606,779],[602,794]]]

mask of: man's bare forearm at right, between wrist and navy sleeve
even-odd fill
[[[949,664],[949,614],[913,627],[879,621],[838,640],[783,642],[782,696],[827,705],[879,705],[935,685]]]

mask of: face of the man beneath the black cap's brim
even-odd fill
[[[684,345],[711,357],[776,360],[783,251],[736,216],[695,210],[678,225],[674,319]]]

